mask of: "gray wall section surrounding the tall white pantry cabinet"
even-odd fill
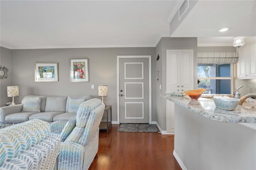
[[[166,93],[166,50],[167,49],[193,49],[194,50],[194,87],[197,85],[197,38],[162,38],[156,46],[156,71],[160,71],[159,81],[156,81],[156,121],[162,130],[166,130],[166,99],[160,94]],[[154,81],[153,81],[154,82]],[[162,89],[159,89],[160,84]]]

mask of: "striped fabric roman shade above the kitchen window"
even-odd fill
[[[198,64],[230,64],[238,61],[236,52],[198,52]]]

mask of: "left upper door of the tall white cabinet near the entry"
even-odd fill
[[[166,76],[167,88],[180,87],[180,51],[167,50]]]

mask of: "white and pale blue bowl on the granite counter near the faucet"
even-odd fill
[[[216,107],[228,111],[235,110],[240,101],[240,99],[234,99],[227,96],[214,96],[213,100]]]

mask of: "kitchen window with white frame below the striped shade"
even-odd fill
[[[232,94],[232,64],[198,64],[198,88],[204,88],[206,94]]]

